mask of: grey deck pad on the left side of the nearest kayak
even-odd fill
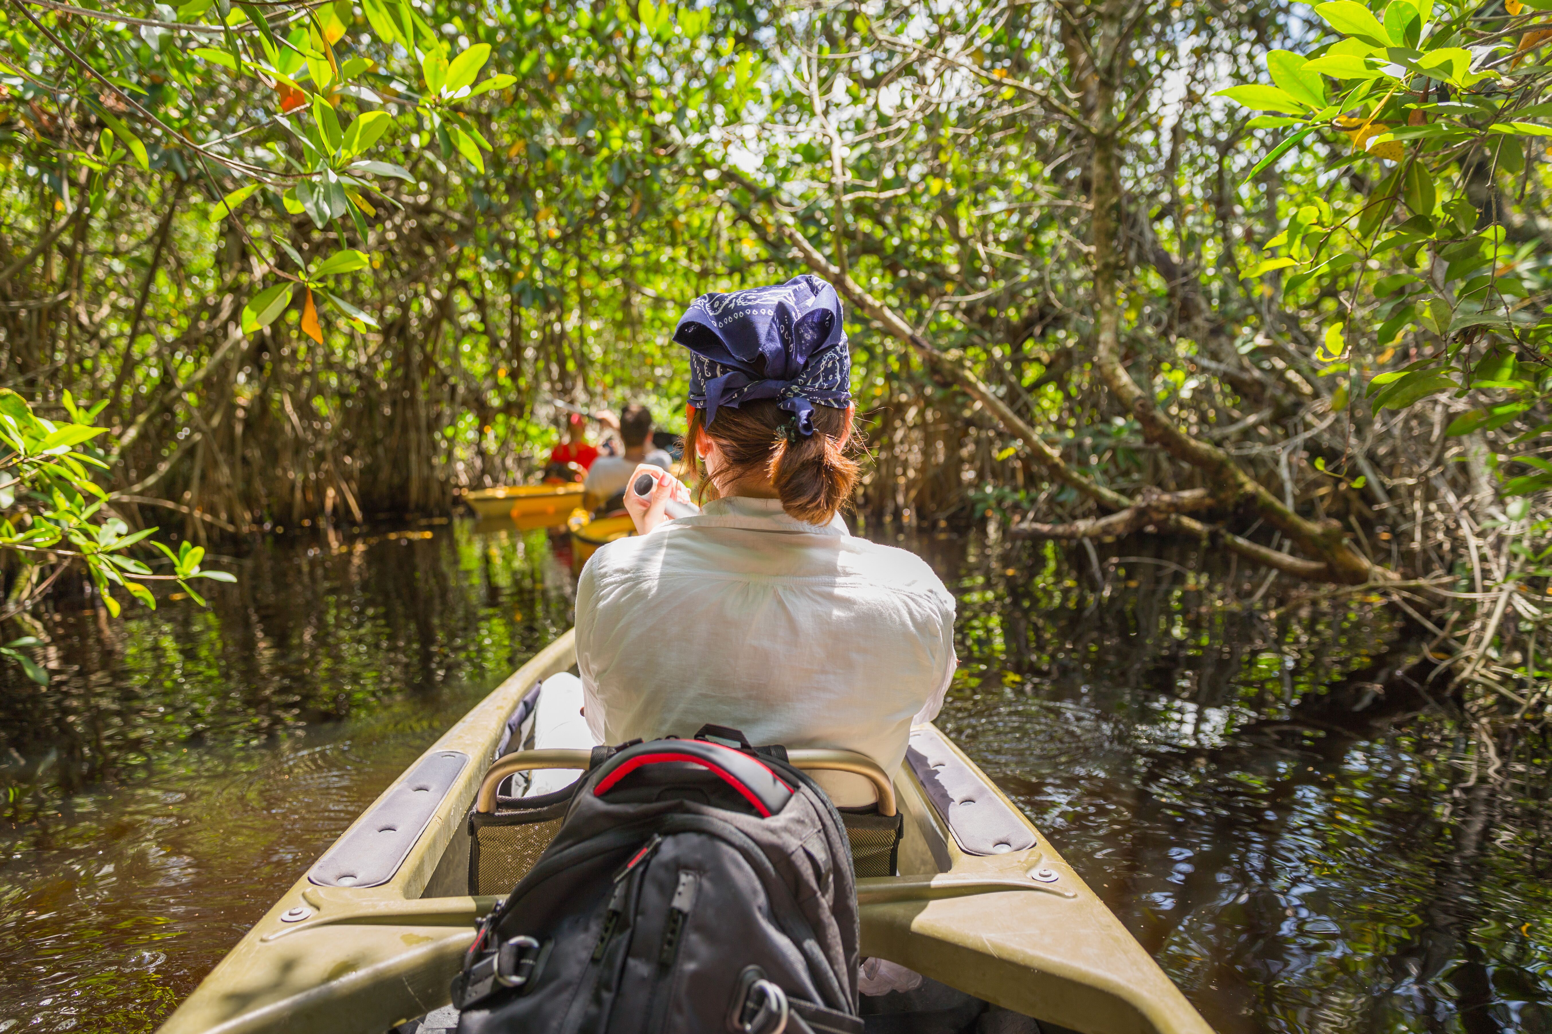
[[[318,859],[307,879],[320,887],[380,887],[404,865],[453,780],[469,764],[459,750],[438,750]]]

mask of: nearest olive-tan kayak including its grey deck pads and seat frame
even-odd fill
[[[574,663],[568,631],[475,705],[300,874],[163,1034],[385,1034],[447,1006],[473,922],[498,901],[494,887],[470,887],[467,815],[508,772],[587,766],[582,752],[553,750],[497,761],[523,696]],[[905,815],[894,874],[866,874],[877,859],[852,837],[864,956],[1082,1034],[1211,1034],[1055,846],[936,727],[913,730],[892,777],[844,750],[795,750],[793,763],[849,766],[874,780],[880,814]],[[526,871],[542,845],[517,846],[504,857]]]

